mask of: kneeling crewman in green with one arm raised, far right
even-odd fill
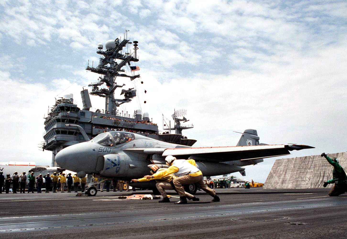
[[[345,170],[339,164],[339,160],[336,157],[332,159],[328,157],[325,153],[321,154],[322,157],[328,160],[328,162],[334,167],[332,170],[332,179],[323,183],[323,187],[327,187],[330,183],[335,183],[335,185],[329,191],[329,196],[339,196],[347,191],[347,176]]]

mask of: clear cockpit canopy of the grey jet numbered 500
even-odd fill
[[[91,141],[101,144],[102,146],[115,146],[118,144],[130,142],[135,139],[135,135],[129,132],[123,131],[110,131],[102,133]]]

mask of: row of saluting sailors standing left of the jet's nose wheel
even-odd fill
[[[43,179],[45,182],[43,182]],[[29,176],[26,175],[26,172],[23,172],[20,175],[18,172],[15,172],[12,176],[7,173],[6,177],[4,177],[3,172],[0,172],[0,193],[2,193],[2,191],[9,193],[11,183],[13,185],[12,193],[17,193],[18,191],[19,193],[25,193],[26,185],[28,185],[28,193],[34,193],[35,186],[35,191],[37,191],[37,193],[42,193],[43,187],[45,187],[45,193],[49,193],[50,191],[53,191],[53,193],[57,193],[57,191],[64,193],[65,187],[67,187],[68,193],[71,193],[72,188],[74,188],[77,193],[80,183],[82,192],[84,191],[86,177],[79,178],[76,174],[71,176],[71,173],[68,173],[68,175],[65,176],[65,173],[57,174],[57,172],[54,172],[52,175],[47,173],[45,176],[39,174],[37,177],[34,176],[34,172],[31,172]],[[3,190],[3,186],[5,186],[5,190]]]

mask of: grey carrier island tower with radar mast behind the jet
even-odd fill
[[[135,110],[133,114],[117,109],[121,104],[128,103],[136,97],[136,89],[134,88],[121,89],[121,97],[119,98],[115,97],[115,91],[117,88],[125,86],[124,83],[117,84],[116,79],[127,77],[132,81],[140,77],[139,74],[133,74],[133,72],[139,70],[139,67],[131,66],[132,63],[138,61],[137,43],[137,41],[130,42],[126,37],[123,40],[117,38],[116,40],[107,41],[105,49],[99,43],[96,53],[101,55],[100,61],[95,67],[94,63],[90,67],[88,62],[86,70],[100,74],[100,76],[97,82],[88,85],[92,87],[90,93],[88,93],[88,89],[81,91],[83,108],[79,108],[74,103],[72,94],[64,95],[61,99],[56,100],[56,103],[51,107],[48,117],[44,121],[44,142],[42,142],[41,148],[52,151],[53,167],[57,166],[55,155],[60,150],[70,145],[84,142],[88,138],[94,138],[96,135],[107,131],[129,131],[187,146],[191,146],[196,142],[194,139],[187,139],[187,137],[182,136],[181,130],[176,132],[176,134],[159,134],[158,125],[150,121],[147,112],[142,114],[141,109]],[[134,51],[122,51],[127,44],[133,44]],[[125,74],[126,70],[123,69],[127,65],[130,68],[130,72],[132,72],[131,75]],[[92,111],[89,94],[104,97],[105,109]],[[86,133],[86,137],[77,127],[68,127],[66,124],[81,126]]]

